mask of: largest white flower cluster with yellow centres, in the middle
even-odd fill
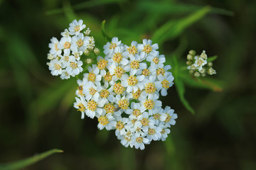
[[[112,38],[104,46],[105,57],[78,80],[74,107],[97,118],[97,127],[115,130],[125,147],[144,149],[152,140],[166,140],[177,118],[169,106],[161,108],[159,94],[167,95],[174,77],[164,66],[164,55],[151,40],[124,45]]]

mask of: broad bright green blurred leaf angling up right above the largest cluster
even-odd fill
[[[159,43],[159,46],[161,46],[164,41],[176,38],[183,30],[188,28],[188,26],[191,26],[193,23],[203,18],[203,16],[206,16],[206,14],[210,12],[210,9],[209,6],[206,6],[186,18],[182,18],[178,21],[168,21],[164,26],[161,26],[159,30],[156,30],[152,40]]]

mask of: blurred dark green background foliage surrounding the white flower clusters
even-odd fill
[[[0,0],[0,13],[0,163],[58,148],[64,153],[25,169],[256,169],[256,1]],[[218,55],[212,78],[222,91],[185,82],[192,115],[173,86],[161,99],[178,114],[168,140],[125,148],[96,119],[80,119],[76,79],[48,70],[50,38],[73,19],[99,47],[106,20],[108,35],[127,44],[153,37],[180,64],[191,49]]]

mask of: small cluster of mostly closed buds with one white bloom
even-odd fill
[[[207,62],[206,51],[203,50],[201,55],[196,55],[194,50],[191,50],[187,55],[189,73],[193,74],[194,77],[205,77],[206,73],[209,75],[216,74],[215,69],[213,69],[213,63]]]

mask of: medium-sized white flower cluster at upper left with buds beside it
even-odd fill
[[[48,53],[50,62],[47,64],[53,76],[60,75],[61,79],[75,77],[82,72],[80,57],[83,52],[85,55],[92,50],[97,54],[100,53],[95,48],[94,38],[90,36],[90,28],[82,33],[85,27],[82,20],[74,20],[70,23],[70,27],[61,33],[60,41],[54,37],[50,39],[50,52]]]

